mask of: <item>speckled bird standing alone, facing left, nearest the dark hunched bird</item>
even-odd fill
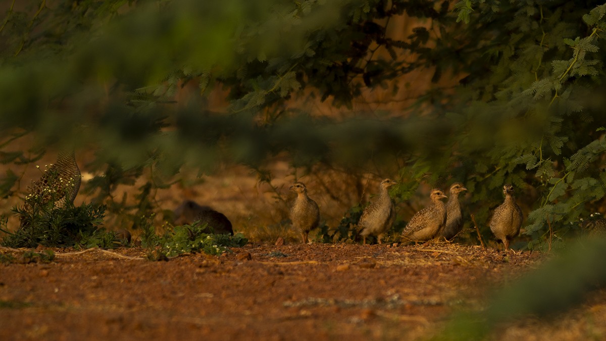
[[[296,230],[301,233],[304,244],[307,244],[309,232],[320,222],[320,209],[316,201],[307,196],[307,187],[302,182],[297,181],[290,186],[291,191],[297,193],[295,202],[290,208],[290,220]]]

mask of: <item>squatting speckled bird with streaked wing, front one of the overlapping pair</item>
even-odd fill
[[[410,241],[428,241],[436,237],[446,223],[446,206],[442,199],[447,198],[439,189],[431,191],[431,204],[416,212],[402,231],[402,237]]]

